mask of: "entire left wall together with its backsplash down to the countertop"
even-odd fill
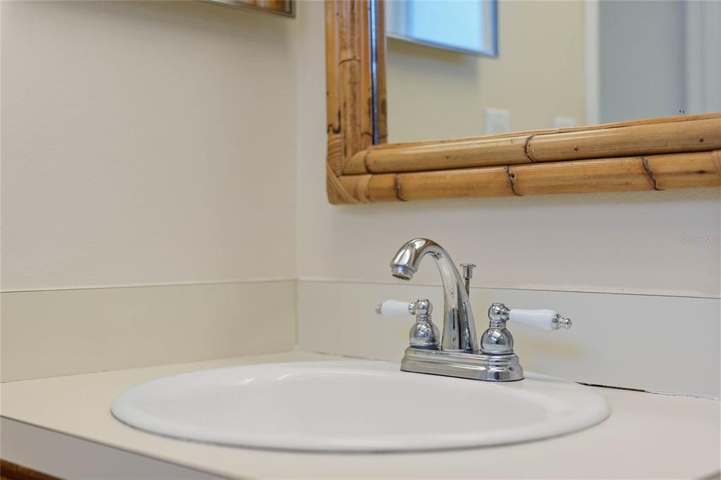
[[[198,1],[1,3],[4,381],[293,348],[297,36]]]

